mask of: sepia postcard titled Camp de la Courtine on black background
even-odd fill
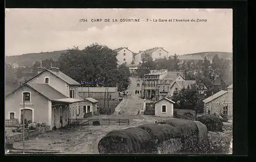
[[[6,9],[5,154],[232,154],[232,9]]]

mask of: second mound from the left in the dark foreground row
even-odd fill
[[[170,139],[176,139],[180,135],[180,132],[175,127],[167,124],[144,124],[138,127],[150,133],[155,145]]]

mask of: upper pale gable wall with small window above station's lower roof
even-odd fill
[[[28,84],[46,84],[46,78],[49,77],[49,85],[55,90],[59,91],[63,95],[67,95],[67,84],[57,76],[53,75],[49,71],[41,73],[39,76],[33,78],[28,82]]]

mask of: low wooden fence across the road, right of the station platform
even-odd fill
[[[130,125],[129,119],[69,119],[70,125]]]

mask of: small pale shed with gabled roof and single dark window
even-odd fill
[[[174,101],[168,98],[162,98],[155,104],[155,116],[159,117],[173,117],[174,116]]]

